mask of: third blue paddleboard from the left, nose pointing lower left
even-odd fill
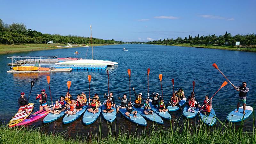
[[[92,124],[98,119],[98,117],[100,116],[100,112],[101,112],[101,106],[100,106],[100,108],[98,108],[99,112],[97,112],[95,114],[89,112],[88,109],[85,111],[84,116],[83,116],[83,124],[85,124],[85,125]]]

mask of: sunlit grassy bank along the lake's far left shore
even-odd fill
[[[55,47],[56,45],[66,46],[65,44],[18,44],[18,45],[0,44],[0,54],[81,47],[81,46]],[[80,44],[76,44],[76,45],[80,45]],[[108,45],[108,44],[93,44],[93,46],[100,46],[100,45]]]

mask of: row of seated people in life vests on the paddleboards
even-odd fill
[[[135,91],[135,88],[132,88],[132,89],[136,96],[136,100],[134,101],[134,107],[135,108],[143,107],[144,114],[152,115],[153,111],[151,110],[149,99],[142,98],[142,93],[137,94]],[[41,90],[41,92],[42,93],[37,94],[37,97],[36,97],[36,100],[39,99],[40,111],[42,111],[43,109],[45,109],[45,111],[50,110],[50,112],[53,114],[59,114],[62,111],[65,111],[65,113],[68,115],[75,115],[77,112],[83,109],[84,105],[88,105],[87,98],[84,92],[82,92],[81,94],[77,94],[76,100],[72,98],[69,92],[67,92],[65,96],[61,96],[60,100],[58,99],[55,100],[55,104],[49,107],[47,105],[47,94],[45,93],[45,90],[43,89]],[[21,112],[22,110],[28,111],[26,109],[26,106],[28,105],[28,99],[24,96],[25,96],[25,93],[21,92],[21,97],[18,100],[18,104],[20,107],[19,112]],[[168,109],[165,108],[164,100],[161,98],[161,96],[159,96],[158,93],[155,94],[154,92],[150,95],[150,97],[152,98],[152,106],[157,108],[159,112],[168,111]],[[114,109],[112,107],[115,108],[116,106],[115,99],[113,97],[113,92],[110,92],[108,96],[105,93],[104,98],[107,99],[107,101],[104,103],[106,109],[103,109],[102,112],[103,113],[113,112]],[[170,101],[168,101],[167,106],[170,105],[173,107],[174,106],[180,107],[179,101],[182,100],[183,98],[185,98],[184,91],[182,89],[179,89],[178,92],[175,91],[172,94],[172,98]],[[121,104],[120,106],[117,107],[117,113],[119,112],[119,109],[126,108],[126,111],[127,111],[125,113],[126,116],[131,118],[132,116],[130,116],[130,114],[133,114],[134,117],[137,117],[138,112],[132,109],[132,102],[131,100],[128,101],[127,94],[124,94],[122,98],[118,97],[118,100],[121,100]],[[142,104],[142,100],[145,100],[144,104]],[[93,114],[98,113],[99,112],[98,108],[100,108],[101,106],[99,95],[95,93],[94,97],[92,99],[90,98],[90,101],[92,102],[89,104],[90,107],[88,111]],[[195,112],[194,110],[195,107],[200,107],[194,92],[192,92],[191,96],[188,97],[187,104],[189,105],[189,111],[192,111],[192,112]],[[209,100],[209,96],[206,95],[204,100],[204,105],[201,107],[200,110],[203,110],[204,112],[209,113],[211,111],[211,105],[212,105],[211,99]],[[180,109],[182,108],[180,107]]]

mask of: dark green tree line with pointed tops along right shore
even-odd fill
[[[208,36],[188,36],[182,39],[181,37],[172,39],[172,38],[162,38],[160,40],[149,41],[147,44],[217,44],[224,45],[225,42],[228,42],[226,45],[235,45],[236,42],[240,42],[240,45],[248,46],[248,45],[256,45],[256,35],[255,34],[247,34],[247,35],[235,35],[231,36],[230,33],[226,32],[225,35],[216,36],[208,35]]]

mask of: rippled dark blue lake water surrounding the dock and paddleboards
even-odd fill
[[[128,51],[123,51],[123,48]],[[79,55],[73,53],[78,51]],[[108,93],[108,75],[109,70],[109,87],[110,91],[114,92],[116,103],[120,103],[117,97],[122,97],[124,93],[129,97],[129,76],[127,69],[131,69],[131,87],[135,87],[136,92],[142,92],[142,96],[147,97],[147,68],[150,68],[149,74],[149,92],[161,93],[161,85],[158,78],[159,74],[163,74],[162,86],[164,100],[170,100],[172,93],[172,78],[174,78],[175,90],[183,88],[185,96],[188,97],[193,91],[192,81],[195,81],[195,93],[200,103],[203,102],[204,96],[208,94],[212,96],[226,81],[225,77],[220,72],[212,67],[215,62],[220,70],[229,78],[235,85],[241,85],[243,81],[247,82],[250,91],[247,93],[246,105],[252,106],[256,101],[256,53],[253,52],[237,52],[227,50],[178,47],[178,46],[161,46],[148,44],[123,44],[123,45],[108,45],[95,47],[95,55],[98,60],[110,60],[118,62],[118,65],[108,67],[107,70],[83,70],[72,72],[59,73],[30,73],[30,74],[12,74],[7,73],[10,69],[7,63],[11,60],[6,57],[9,56],[59,56],[65,57],[82,57],[85,58],[87,48],[69,48],[46,50],[36,52],[22,52],[13,54],[0,55],[0,118],[2,123],[7,124],[12,116],[18,110],[17,99],[20,97],[20,92],[25,92],[28,97],[30,91],[30,82],[35,81],[35,86],[32,89],[29,102],[35,103],[34,111],[39,109],[36,94],[41,92],[41,89],[46,89],[48,94],[48,103],[50,103],[50,94],[46,76],[51,76],[51,92],[52,99],[59,99],[61,95],[65,95],[68,91],[67,81],[72,81],[70,93],[74,97],[76,94],[85,92],[89,94],[88,75],[92,75],[91,80],[91,95],[98,93],[101,101],[103,101],[103,94]],[[92,58],[91,49],[87,54],[87,59]],[[95,59],[95,57],[94,57]],[[223,87],[212,100],[212,107],[214,108],[217,117],[225,121],[226,116],[236,108],[237,96],[239,92],[228,84]],[[131,92],[132,100],[134,100],[134,93]],[[171,113],[172,121],[179,119],[182,116],[182,111]],[[181,117],[184,119],[184,117]],[[191,121],[196,122],[199,116]],[[107,131],[108,124],[100,118],[89,126],[82,124],[82,118],[79,118],[71,124],[62,124],[62,118],[50,123],[43,124],[42,119],[32,123],[31,125],[44,126],[42,129],[46,132],[63,132],[70,135],[76,133],[94,132],[99,129],[99,124]],[[147,122],[149,127],[152,123]],[[219,124],[217,122],[217,124]],[[136,125],[117,114],[116,122],[112,127],[116,129],[125,129],[131,131],[136,129]],[[247,129],[252,129],[253,114],[246,120],[244,124]],[[170,122],[164,121],[164,127],[169,127]],[[145,130],[143,127],[138,128]]]

